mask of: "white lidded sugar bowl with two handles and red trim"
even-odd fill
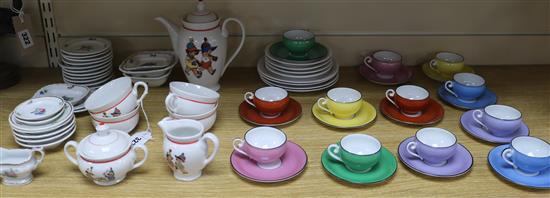
[[[126,177],[126,173],[145,163],[147,147],[132,146],[130,135],[105,125],[99,125],[96,130],[80,143],[67,142],[64,148],[67,159],[94,183],[102,186],[117,184]],[[76,149],[76,158],[69,154],[69,147]],[[136,149],[144,153],[139,162],[136,162]]]

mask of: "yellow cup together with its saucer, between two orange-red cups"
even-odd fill
[[[374,106],[363,100],[355,89],[338,87],[319,98],[311,112],[321,123],[336,128],[357,128],[376,118]]]

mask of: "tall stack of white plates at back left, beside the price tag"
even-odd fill
[[[113,50],[107,39],[70,39],[61,46],[63,81],[97,88],[113,76]]]

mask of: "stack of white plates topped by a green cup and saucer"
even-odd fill
[[[304,30],[283,34],[283,41],[268,45],[258,61],[263,82],[290,92],[327,89],[338,81],[338,64],[330,50]]]

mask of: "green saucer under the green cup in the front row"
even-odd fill
[[[367,173],[354,173],[349,171],[343,163],[330,159],[326,149],[321,155],[321,163],[325,171],[329,172],[332,176],[355,184],[383,182],[392,177],[397,171],[397,160],[393,154],[384,147],[382,147],[380,161]]]

